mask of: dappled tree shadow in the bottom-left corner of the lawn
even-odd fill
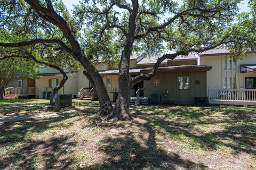
[[[17,169],[66,169],[74,163],[70,157],[61,157],[69,147],[75,146],[76,142],[69,141],[70,136],[50,138],[47,141],[36,140],[27,142],[15,152],[3,155],[0,168]],[[72,152],[72,151],[69,151]]]

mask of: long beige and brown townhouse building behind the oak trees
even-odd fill
[[[159,103],[195,104],[197,97],[208,97],[209,103],[212,104],[254,105],[256,99],[256,92],[254,95],[254,89],[256,89],[255,59],[256,54],[250,53],[235,60],[225,49],[178,56],[174,60],[163,61],[157,74],[151,80],[135,84],[131,89],[131,96],[135,97],[138,88],[143,88],[140,91],[140,97],[148,97],[151,101],[153,97],[158,98]],[[157,57],[131,56],[130,75],[134,77],[141,73],[148,73],[156,60]],[[115,100],[119,90],[117,66],[98,63],[96,67],[102,76],[110,99]],[[52,87],[60,82],[62,75],[57,70],[48,67],[43,67],[39,73],[38,78],[34,80],[35,97],[43,98],[45,92],[50,93]],[[68,73],[68,77],[60,93],[79,95],[79,97],[81,94],[83,97],[90,93],[92,87],[83,75],[83,70]],[[28,83],[31,81],[30,78],[21,79],[22,87],[29,87],[26,84],[31,84]],[[9,83],[9,87],[18,87],[19,80]]]

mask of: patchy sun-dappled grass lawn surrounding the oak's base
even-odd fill
[[[131,122],[98,126],[96,112],[0,124],[0,169],[256,169],[256,108],[131,106]]]

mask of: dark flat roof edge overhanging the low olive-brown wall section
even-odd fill
[[[148,73],[153,68],[141,69],[141,73]],[[168,66],[159,67],[157,72],[181,72],[181,71],[209,71],[212,67],[209,65],[179,65],[179,66]]]

